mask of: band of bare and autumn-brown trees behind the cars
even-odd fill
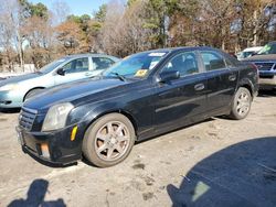
[[[238,52],[276,40],[275,0],[110,0],[93,15],[67,11],[62,1],[50,10],[28,0],[0,0],[0,68],[40,68],[88,52],[124,57],[195,45]]]

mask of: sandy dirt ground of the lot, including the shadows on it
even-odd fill
[[[109,168],[49,167],[0,113],[0,206],[276,206],[276,95],[242,121],[213,118],[135,145]]]

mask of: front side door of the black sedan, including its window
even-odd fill
[[[178,70],[180,78],[157,83],[156,131],[163,132],[184,126],[195,116],[203,116],[206,106],[206,80],[194,52],[172,57],[161,69]]]

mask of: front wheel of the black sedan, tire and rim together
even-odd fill
[[[129,119],[120,113],[109,113],[86,130],[83,154],[92,164],[109,167],[128,156],[135,139],[135,129]]]

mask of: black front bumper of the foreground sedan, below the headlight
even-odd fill
[[[82,159],[84,132],[78,128],[72,141],[71,133],[74,127],[54,132],[30,132],[17,127],[17,131],[23,152],[47,163],[66,165]]]

